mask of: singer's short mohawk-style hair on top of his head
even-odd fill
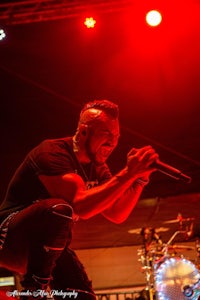
[[[109,100],[94,100],[94,101],[86,103],[84,105],[83,109],[81,110],[80,116],[86,110],[91,109],[91,108],[100,109],[113,119],[117,119],[119,117],[118,105]]]

